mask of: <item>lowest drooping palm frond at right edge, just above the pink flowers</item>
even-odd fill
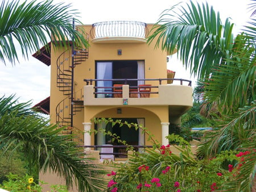
[[[240,108],[234,115],[226,116],[218,123],[216,129],[207,132],[199,147],[201,156],[214,157],[217,153],[229,149],[240,149],[250,143],[255,135],[256,101],[250,106]]]

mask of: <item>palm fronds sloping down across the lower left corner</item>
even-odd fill
[[[29,167],[57,172],[67,186],[76,185],[80,191],[100,191],[105,182],[99,177],[104,170],[83,157],[71,135],[61,135],[63,128],[49,125],[28,108],[29,103],[18,103],[14,96],[0,98],[0,150],[21,149]]]

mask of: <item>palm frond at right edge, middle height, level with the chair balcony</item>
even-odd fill
[[[236,53],[228,65],[214,66],[216,72],[205,82],[204,100],[207,103],[216,102],[221,114],[237,111],[255,99],[254,47],[250,46],[239,55]]]

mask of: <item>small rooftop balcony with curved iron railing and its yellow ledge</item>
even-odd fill
[[[146,43],[146,23],[112,21],[92,24],[90,36],[93,43]]]

